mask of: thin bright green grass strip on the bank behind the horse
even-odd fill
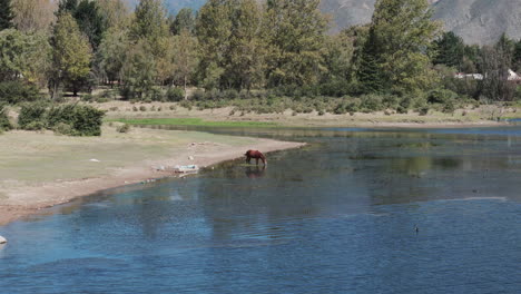
[[[209,121],[201,118],[132,118],[111,119],[128,125],[166,125],[166,126],[201,126],[201,127],[276,127],[275,122],[264,121]]]

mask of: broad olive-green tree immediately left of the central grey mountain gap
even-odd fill
[[[303,86],[317,81],[327,19],[320,0],[268,0],[264,16],[269,86]]]

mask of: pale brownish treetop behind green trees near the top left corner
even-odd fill
[[[12,22],[21,31],[48,31],[56,19],[55,9],[51,0],[12,0]]]

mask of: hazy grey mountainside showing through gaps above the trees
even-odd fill
[[[137,2],[138,0],[131,0]],[[446,30],[461,36],[466,43],[492,43],[501,33],[521,38],[521,0],[427,0],[434,7],[434,18]],[[180,8],[200,8],[206,0],[166,0],[171,12]],[[333,17],[333,31],[353,24],[367,23],[376,0],[322,0],[321,9]]]

